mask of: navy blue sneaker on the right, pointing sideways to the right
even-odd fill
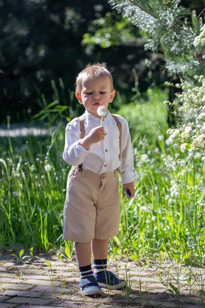
[[[94,273],[94,277],[100,287],[110,290],[121,289],[126,284],[124,279],[119,279],[113,272],[103,271],[98,274]]]

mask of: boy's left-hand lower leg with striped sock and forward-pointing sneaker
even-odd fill
[[[81,274],[79,288],[85,296],[101,295],[102,291],[91,270],[90,242],[75,243],[75,255]]]

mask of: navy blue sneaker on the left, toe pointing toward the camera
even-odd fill
[[[81,278],[78,287],[81,289],[81,293],[84,296],[94,296],[102,294],[102,290],[100,286],[97,284],[97,281],[95,280],[94,276]]]

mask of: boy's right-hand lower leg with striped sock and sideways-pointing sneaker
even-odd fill
[[[91,241],[91,249],[94,264],[94,277],[100,287],[110,290],[120,289],[126,281],[119,279],[114,273],[107,271],[108,240]]]

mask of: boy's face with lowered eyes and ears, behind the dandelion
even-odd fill
[[[97,108],[100,106],[107,108],[108,104],[112,103],[115,94],[116,91],[111,90],[110,78],[108,76],[100,76],[91,81],[83,81],[81,93],[76,92],[75,96],[89,113],[100,118],[97,114]]]

